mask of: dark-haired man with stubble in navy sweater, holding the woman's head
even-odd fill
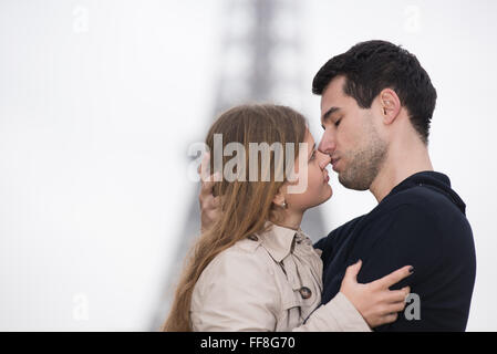
[[[376,331],[464,331],[476,257],[465,204],[427,150],[436,91],[417,59],[392,43],[369,41],[328,61],[312,91],[321,95],[324,129],[319,150],[340,183],[369,189],[379,205],[314,244],[322,250],[322,303],[340,289],[348,266],[363,260],[367,283],[405,266],[414,274],[412,313]],[[215,215],[203,189],[203,222]],[[407,308],[407,312],[410,311]]]

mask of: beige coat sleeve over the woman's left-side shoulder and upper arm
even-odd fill
[[[253,242],[241,240],[217,254],[200,274],[190,304],[195,330],[273,327],[281,293],[270,263],[249,241]]]

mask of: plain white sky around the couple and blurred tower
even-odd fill
[[[437,88],[431,154],[467,204],[468,331],[496,331],[495,1],[306,1],[304,106],[356,42],[415,53]],[[224,1],[0,0],[0,330],[148,330],[211,119]],[[292,105],[292,102],[284,102]],[[375,206],[330,181],[334,227]]]

